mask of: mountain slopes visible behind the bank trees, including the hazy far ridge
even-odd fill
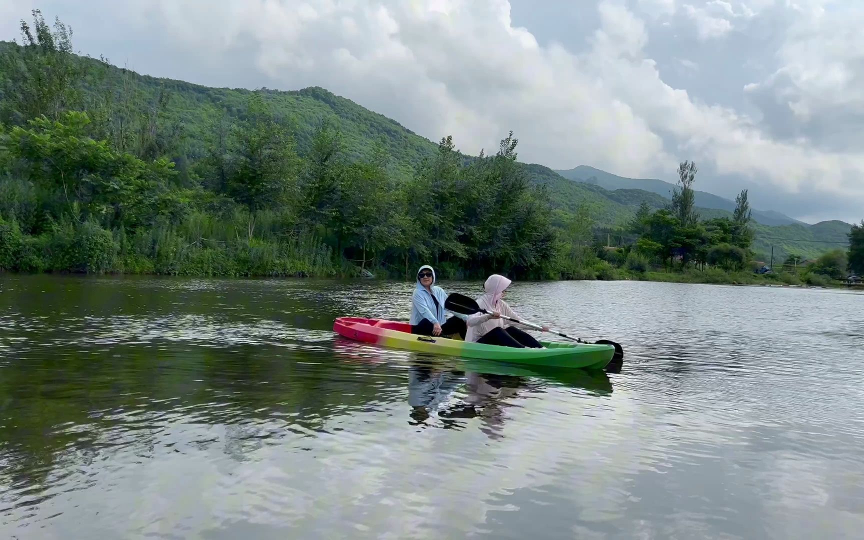
[[[0,41],[0,55],[13,54],[17,47],[14,43]],[[151,77],[89,57],[75,57],[75,61],[98,67],[88,70],[82,84],[81,102],[87,110],[96,111],[94,114],[98,115],[98,104],[116,105],[118,100],[123,100],[121,110],[128,111],[130,116],[149,114],[146,135],[155,139],[152,144],[156,146],[163,139],[170,139],[164,146],[175,154],[170,157],[187,180],[194,176],[191,164],[206,154],[206,141],[213,137],[214,125],[245,118],[250,90],[213,88]],[[372,158],[383,149],[390,156],[391,172],[403,180],[409,179],[416,166],[424,158],[435,156],[437,151],[437,144],[428,138],[324,88],[308,87],[289,92],[264,89],[263,93],[275,115],[294,125],[300,154],[308,152],[314,133],[323,122],[339,127],[348,156]],[[0,103],[2,101],[0,95]],[[109,122],[116,124],[117,119]],[[116,130],[108,133],[109,137],[120,137]],[[138,143],[140,138],[131,137],[132,142],[128,144]],[[467,155],[461,158],[464,161],[475,159]],[[556,209],[573,213],[579,206],[587,207],[598,226],[623,226],[643,201],[653,208],[666,206],[670,202],[666,195],[673,187],[664,181],[628,179],[584,166],[569,171],[555,171],[536,163],[525,163],[524,167],[532,181],[547,187]],[[734,202],[704,192],[697,192],[696,203],[702,218],[730,216],[734,209]],[[765,257],[771,245],[774,245],[775,259],[790,252],[816,257],[833,247],[848,245],[845,234],[851,226],[839,221],[809,226],[779,213],[754,211],[753,216],[759,222],[755,226],[759,257]]]

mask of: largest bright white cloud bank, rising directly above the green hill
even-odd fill
[[[463,151],[490,149],[512,129],[521,156],[552,166],[581,156],[635,174],[669,159],[661,138],[580,58],[513,27],[507,2],[307,4],[315,16],[300,24],[288,4],[222,3],[209,10],[206,31],[188,25],[197,3],[149,3],[148,15],[175,40],[203,40],[214,59],[251,39],[257,66],[283,87],[325,86],[433,140],[452,133]],[[641,22],[611,4],[602,12],[618,30],[599,46],[638,55]]]

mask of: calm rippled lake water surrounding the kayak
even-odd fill
[[[0,537],[861,537],[864,295],[514,283],[594,377],[334,336],[410,290],[0,275]]]

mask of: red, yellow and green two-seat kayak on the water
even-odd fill
[[[602,370],[615,353],[612,345],[594,343],[540,341],[540,344],[546,347],[544,349],[485,345],[442,336],[411,334],[411,325],[407,322],[362,317],[338,317],[334,321],[333,329],[336,334],[350,340],[380,346],[527,365]]]

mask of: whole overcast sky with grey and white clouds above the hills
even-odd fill
[[[864,0],[3,0],[75,48],[208,86],[324,86],[433,141],[864,218]]]

